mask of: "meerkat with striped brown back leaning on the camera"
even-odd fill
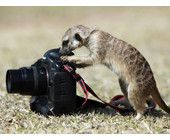
[[[69,52],[85,46],[87,56],[65,56]],[[61,61],[69,62],[77,68],[103,64],[118,76],[120,88],[137,111],[136,119],[145,113],[146,100],[152,96],[167,113],[165,104],[156,86],[153,72],[144,56],[132,45],[94,27],[77,25],[68,29],[62,38]]]

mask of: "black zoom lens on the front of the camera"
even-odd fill
[[[44,95],[47,92],[47,71],[45,67],[22,67],[6,73],[8,93],[21,95]]]

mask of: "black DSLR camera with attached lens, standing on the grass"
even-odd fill
[[[51,49],[30,67],[9,69],[6,73],[7,92],[32,96],[31,110],[45,116],[76,109],[76,81],[63,69],[59,50]]]

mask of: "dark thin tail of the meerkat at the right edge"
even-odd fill
[[[151,93],[153,99],[156,101],[156,103],[167,113],[170,113],[170,108],[165,104],[164,100],[162,99],[158,89],[154,90],[154,92]]]

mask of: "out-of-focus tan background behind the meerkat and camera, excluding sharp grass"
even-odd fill
[[[135,46],[170,103],[170,7],[0,7],[0,99],[6,96],[7,69],[30,66],[48,49],[60,47],[65,31],[78,24],[96,26]],[[104,66],[77,71],[100,97],[120,94],[117,77]]]

